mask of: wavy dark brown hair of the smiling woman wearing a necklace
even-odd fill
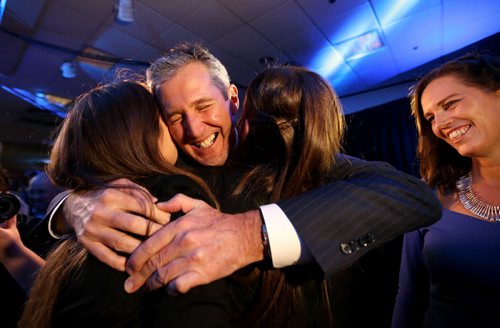
[[[463,83],[486,92],[500,89],[500,60],[486,54],[471,53],[449,61],[425,75],[412,89],[411,108],[418,131],[420,174],[431,187],[441,192],[456,190],[456,181],[470,171],[472,160],[436,137],[423,115],[422,93],[435,79],[456,76]]]

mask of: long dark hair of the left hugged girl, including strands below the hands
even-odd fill
[[[54,143],[49,176],[59,186],[78,192],[107,187],[118,178],[137,181],[158,174],[182,174],[198,182],[211,196],[200,178],[162,157],[162,115],[153,95],[136,82],[107,84],[81,95]],[[87,251],[74,236],[51,252],[34,282],[20,327],[50,327],[62,284],[78,272],[86,257]]]

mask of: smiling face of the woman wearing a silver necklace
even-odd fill
[[[500,91],[486,92],[446,75],[429,83],[421,104],[434,134],[460,155],[500,156]]]

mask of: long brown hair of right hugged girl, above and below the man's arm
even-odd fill
[[[249,133],[236,161],[249,165],[235,197],[252,195],[260,197],[259,202],[274,202],[328,182],[345,121],[337,95],[318,74],[288,66],[264,70],[247,89],[240,130],[245,120]],[[246,278],[252,281],[255,274]],[[319,270],[308,266],[262,270],[260,279],[259,300],[240,324],[245,320],[260,326],[332,324],[329,285]],[[311,290],[316,291],[312,296]],[[314,308],[311,298],[317,301]]]

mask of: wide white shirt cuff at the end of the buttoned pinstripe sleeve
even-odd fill
[[[311,254],[286,214],[276,204],[260,207],[266,224],[273,267],[309,262]]]

